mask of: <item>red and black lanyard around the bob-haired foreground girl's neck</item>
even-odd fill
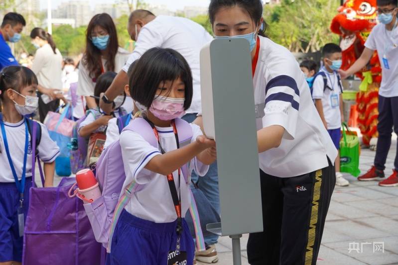
[[[162,148],[161,144],[160,144],[160,138],[159,138],[159,133],[156,130],[155,125],[153,124],[153,122],[151,122],[148,119],[145,119],[149,125],[152,127],[153,133],[155,134],[155,137],[157,139],[157,143],[159,144],[159,149],[160,152],[162,154],[166,153],[164,151],[164,149]],[[177,134],[177,128],[175,126],[175,122],[174,120],[171,121],[171,125],[173,126],[173,132],[174,132],[174,136],[175,136],[175,141],[177,143],[177,149],[180,148],[180,142],[178,140],[178,134]],[[181,169],[178,169],[178,180],[180,182],[180,186],[181,186]],[[175,209],[175,213],[177,214],[177,228],[176,228],[176,232],[177,235],[179,236],[182,232],[182,221],[181,221],[181,187],[180,187],[180,198],[178,198],[177,195],[177,188],[175,187],[175,183],[174,183],[174,177],[173,177],[173,173],[170,173],[169,175],[167,175],[167,182],[168,182],[168,186],[170,188],[170,193],[171,193],[171,197],[173,199],[173,203],[174,203],[174,209]]]

